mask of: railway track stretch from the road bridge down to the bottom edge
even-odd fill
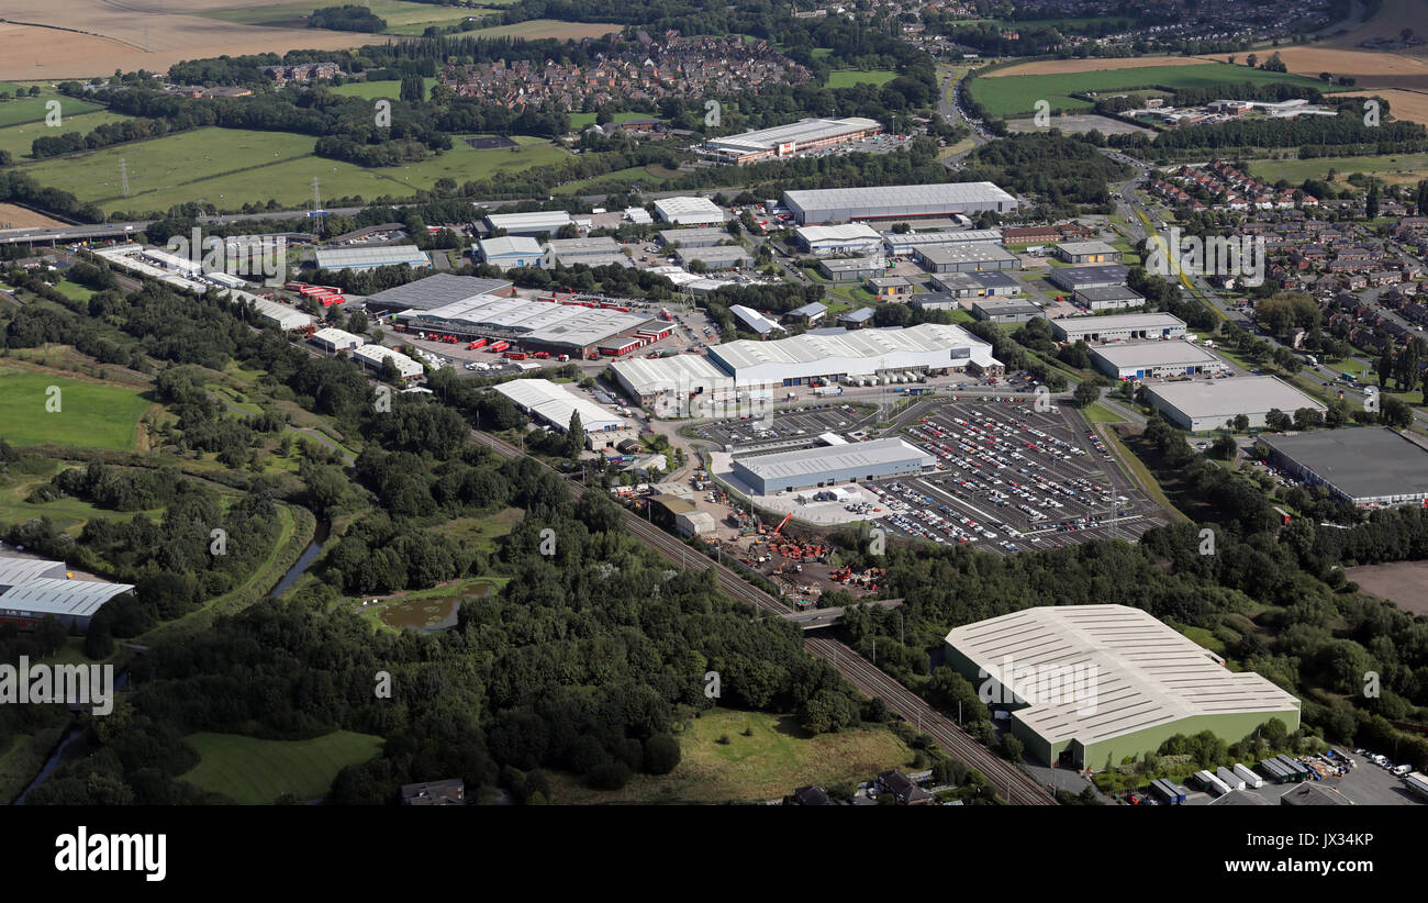
[[[1025,772],[992,754],[951,719],[878,670],[851,647],[827,637],[805,637],[810,653],[833,664],[848,683],[868,696],[881,697],[890,709],[930,734],[944,750],[981,772],[992,789],[1012,806],[1055,806],[1055,797]]]

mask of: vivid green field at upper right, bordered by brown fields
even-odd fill
[[[1047,76],[997,76],[972,80],[972,97],[990,116],[1017,116],[1035,113],[1037,101],[1045,100],[1052,110],[1090,110],[1090,100],[1071,94],[1098,91],[1101,94],[1124,91],[1137,87],[1157,86],[1167,90],[1181,87],[1231,87],[1251,81],[1254,84],[1291,83],[1312,86],[1318,90],[1332,90],[1317,79],[1281,74],[1230,66],[1228,63],[1201,63],[1192,66],[1144,66],[1137,69],[1112,69],[1101,71],[1060,73]],[[1348,89],[1339,89],[1348,90]]]

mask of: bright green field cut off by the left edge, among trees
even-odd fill
[[[46,410],[50,386],[60,389],[60,410],[53,413]],[[11,446],[54,443],[129,452],[149,404],[133,389],[0,367],[0,434]]]

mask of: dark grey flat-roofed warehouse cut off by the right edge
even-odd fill
[[[1285,411],[1291,413],[1291,411]],[[1389,429],[1259,436],[1269,463],[1359,507],[1428,503],[1428,450]]]

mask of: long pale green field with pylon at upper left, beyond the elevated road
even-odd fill
[[[458,184],[490,179],[540,164],[558,163],[567,153],[550,141],[516,139],[513,150],[473,150],[460,139],[453,149],[406,166],[363,169],[353,163],[311,154],[316,140],[286,131],[198,129],[91,153],[29,163],[21,171],[43,184],[64,187],[80,200],[97,201],[109,211],[167,210],[173,204],[206,200],[220,210],[246,201],[277,200],[301,206],[313,196],[313,179],[321,194],[366,199],[406,197],[427,190],[443,177]],[[129,167],[129,197],[120,196],[119,161]]]

